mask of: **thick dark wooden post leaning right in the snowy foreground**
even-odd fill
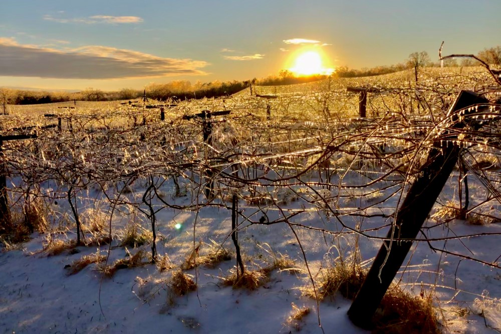
[[[462,128],[453,112],[488,100],[478,94],[461,91],[447,116],[457,122],[454,127]],[[376,312],[386,290],[400,269],[410,247],[428,216],[433,204],[447,182],[452,169],[459,158],[460,147],[444,142],[432,148],[428,159],[412,184],[402,205],[398,209],[393,223],[383,242],[360,291],[348,310],[348,316],[354,324],[363,328],[372,326],[372,317]]]

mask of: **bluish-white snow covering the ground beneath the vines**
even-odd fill
[[[457,196],[456,180],[457,175],[451,176],[440,201],[445,202]],[[356,178],[347,177],[343,181],[356,183]],[[471,181],[471,184],[471,189],[475,189],[474,181]],[[170,196],[172,185],[166,184],[164,188],[162,190]],[[142,194],[144,190],[144,185],[137,182],[128,196]],[[113,189],[110,188],[110,191]],[[102,194],[99,195],[98,190],[88,190],[87,195],[79,198],[80,209],[91,207],[100,196],[102,197]],[[391,212],[397,205],[397,199],[394,197],[385,201],[384,207],[370,210]],[[472,197],[475,198],[474,195]],[[177,204],[190,202],[189,196],[170,199]],[[344,209],[356,209],[357,203],[361,201],[363,199],[354,193],[352,199],[345,201]],[[259,220],[261,213],[254,215],[259,211],[257,207],[246,204],[243,200],[240,200],[239,204],[249,220]],[[291,213],[301,209],[301,205],[301,201],[292,201],[284,203],[282,209]],[[64,204],[59,203],[58,206],[59,211],[69,212],[69,208]],[[494,210],[497,210],[497,206]],[[270,220],[283,214],[276,208],[269,208],[265,212]],[[193,245],[199,241],[203,242],[202,252],[206,249],[203,247],[211,243],[210,240],[234,251],[229,237],[229,210],[204,207],[196,213],[165,208],[158,212],[156,218],[159,234],[158,254],[168,255],[175,266],[180,266]],[[382,226],[385,222],[381,217],[358,219],[345,216],[342,219],[348,226],[363,225],[365,228]],[[340,255],[346,258],[355,250],[355,236],[342,234],[341,232],[347,232],[347,229],[320,210],[312,209],[301,213],[291,218],[291,222],[339,232],[334,235],[305,227],[294,227],[313,275],[321,266],[332,263],[334,258]],[[143,223],[144,227],[148,228],[148,221]],[[300,287],[308,286],[311,282],[303,253],[289,225],[250,225],[248,222],[242,222],[241,218],[240,223],[242,225],[238,238],[246,265],[253,267],[267,263],[271,253],[287,254],[301,270],[297,273],[275,270],[269,282],[253,291],[233,289],[224,285],[221,279],[235,267],[233,256],[230,261],[221,262],[215,268],[200,266],[196,270],[185,270],[186,274],[196,280],[197,289],[183,296],[173,297],[173,305],[170,305],[172,296],[168,280],[172,270],[159,271],[155,264],[120,269],[112,278],[103,277],[101,272],[95,270],[96,264],[88,265],[77,274],[68,275],[65,266],[83,255],[96,252],[109,254],[108,263],[118,258],[126,258],[126,249],[118,246],[117,240],[113,241],[111,246],[81,246],[75,254],[65,251],[60,255],[47,256],[42,251],[43,244],[47,242],[47,235],[35,233],[30,241],[22,245],[22,249],[4,249],[0,252],[0,333],[294,333],[298,328],[287,324],[292,312],[292,303],[299,307],[306,305],[311,308],[310,314],[300,323],[301,333],[367,332],[354,326],[348,319],[350,300],[336,295],[320,302],[317,309],[315,300],[301,295]],[[117,218],[113,224],[114,227],[123,225],[124,221]],[[179,226],[181,228],[176,228]],[[458,220],[442,225],[428,222],[427,226],[429,228],[425,229],[424,233],[428,238],[454,234],[501,233],[499,223],[475,226]],[[386,232],[387,228],[380,228],[371,234],[381,237],[385,236]],[[59,237],[75,238],[74,233],[71,229]],[[439,249],[460,252],[492,262],[498,256],[499,241],[500,236],[494,234],[431,243]],[[380,245],[381,241],[378,239],[358,237],[358,247],[364,259],[375,256]],[[149,246],[143,248],[147,251],[150,249]],[[137,251],[127,250],[130,253]],[[497,302],[501,296],[501,270],[457,256],[434,252],[426,242],[413,246],[408,260],[406,270],[403,271],[402,268],[396,279],[401,279],[401,285],[415,294],[419,293],[422,286],[436,286],[435,293],[439,299],[436,302],[444,309],[448,325],[446,332],[495,332],[485,326],[485,321],[492,327],[501,327],[500,303]],[[480,306],[478,302],[475,303],[476,298],[484,301],[482,305],[485,307],[485,320],[478,315]],[[488,305],[490,308],[487,308]],[[467,314],[457,315],[464,308]],[[319,318],[322,328],[319,327]]]

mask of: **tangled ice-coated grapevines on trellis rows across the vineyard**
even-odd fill
[[[198,214],[219,208],[233,215],[227,238],[233,237],[237,249],[235,232],[285,224],[308,265],[297,230],[325,240],[326,236],[333,240],[351,236],[388,241],[385,235],[395,224],[400,198],[428,163],[428,151],[456,145],[461,147],[460,161],[486,191],[483,198],[469,199],[468,215],[499,221],[495,211],[485,211],[501,203],[495,82],[479,68],[420,69],[417,83],[409,80],[413,77],[413,72],[402,72],[377,78],[330,78],[294,87],[255,86],[255,95],[247,90],[224,99],[169,102],[167,112],[145,104],[50,111],[68,120],[66,127],[59,124],[60,131],[47,128],[53,121],[43,115],[48,110],[40,115],[11,110],[2,116],[3,136],[19,133],[23,127],[26,135],[37,131],[39,136],[4,143],[10,211],[27,216],[29,210],[19,208],[42,202],[53,224],[64,220],[76,224],[80,242],[80,236],[90,237],[80,228],[79,207],[95,204],[91,189],[99,191],[99,201],[109,214],[110,236],[120,216],[140,215],[155,236],[156,226],[166,223],[157,219],[161,210]],[[347,92],[347,87],[379,90],[367,101],[367,117],[359,116],[359,94]],[[446,114],[464,89],[476,90],[487,102],[475,105],[473,112],[459,110],[458,117],[474,118],[481,128],[457,128],[457,119]],[[189,116],[205,110],[230,110],[231,114],[221,115],[207,132],[207,124],[200,127]],[[207,187],[212,189],[210,194],[204,191]],[[182,195],[187,199],[179,200]],[[72,218],[53,208],[62,200],[68,200]],[[301,222],[312,213],[321,216],[322,226]],[[453,229],[447,223],[454,218],[438,225]],[[501,254],[476,256],[437,246],[461,242],[467,236],[431,237],[434,226],[425,225],[417,241],[500,268]],[[196,218],[192,228],[195,249]],[[151,260],[157,255],[153,242]],[[238,257],[243,273],[239,251]],[[313,275],[309,276],[314,283]]]

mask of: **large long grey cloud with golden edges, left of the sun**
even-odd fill
[[[104,46],[56,50],[20,45],[0,37],[0,76],[58,79],[123,79],[205,75],[209,65],[191,59],[162,58]]]

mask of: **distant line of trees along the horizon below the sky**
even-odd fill
[[[490,65],[501,66],[501,46],[486,48],[478,54],[478,58]],[[440,62],[432,62],[428,53],[425,51],[414,52],[409,58],[399,64],[389,66],[376,66],[372,68],[362,68],[360,70],[349,69],[347,66],[341,66],[336,69],[332,77],[353,78],[367,77],[381,74],[394,73],[406,69],[417,69],[418,67],[441,66]],[[476,66],[479,62],[472,58],[447,59],[443,66]],[[295,76],[289,70],[281,70],[278,75],[272,75],[263,79],[252,79],[245,81],[212,81],[202,83],[197,81],[191,84],[188,80],[175,80],[166,84],[151,83],[145,87],[146,97],[155,100],[189,100],[201,98],[213,98],[228,96],[239,92],[250,85],[276,86],[301,84],[327,78],[326,75]],[[47,91],[29,91],[16,90],[9,88],[0,88],[0,104],[41,104],[53,102],[67,102],[73,100],[79,101],[115,101],[115,100],[133,100],[141,98],[143,90],[132,88],[123,88],[120,91],[105,92],[99,89],[87,88],[81,92],[47,92]]]

